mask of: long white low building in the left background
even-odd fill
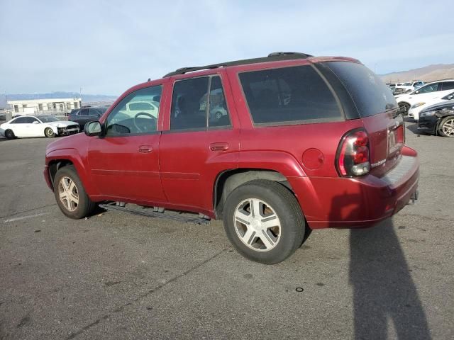
[[[73,108],[80,108],[81,98],[50,98],[23,99],[8,101],[11,112],[19,115],[35,115],[38,113],[70,113]]]

